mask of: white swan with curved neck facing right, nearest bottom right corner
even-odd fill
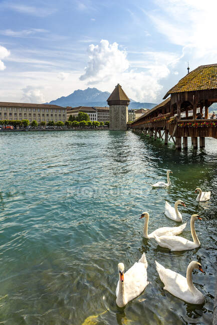
[[[177,272],[172,271],[169,268],[165,268],[156,260],[155,263],[157,272],[160,276],[161,281],[164,284],[164,290],[169,291],[171,294],[189,303],[204,302],[203,294],[199,290],[197,290],[197,288],[193,285],[191,277],[192,270],[194,268],[197,268],[204,273],[200,263],[195,260],[190,262],[187,266],[186,277],[182,276]]]

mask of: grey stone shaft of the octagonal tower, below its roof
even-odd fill
[[[126,130],[128,122],[128,105],[109,106],[109,129]]]

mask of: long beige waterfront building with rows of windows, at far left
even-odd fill
[[[21,102],[0,102],[0,120],[22,120],[29,119],[30,122],[66,120],[66,108],[58,105],[32,104]]]

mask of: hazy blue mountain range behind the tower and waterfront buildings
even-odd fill
[[[67,106],[108,106],[106,99],[109,97],[110,92],[101,91],[97,88],[88,87],[85,90],[75,90],[73,93],[68,96],[62,96],[46,104],[54,104],[63,107]],[[138,102],[133,99],[130,99],[130,104],[128,108],[138,109],[138,108],[152,108],[156,104],[151,102]]]

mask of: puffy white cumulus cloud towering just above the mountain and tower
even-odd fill
[[[118,49],[118,44],[109,44],[102,39],[99,45],[91,44],[88,47],[89,61],[81,80],[89,79],[90,82],[99,82],[102,78],[109,78],[114,73],[121,73],[128,69],[129,61],[126,52]]]

